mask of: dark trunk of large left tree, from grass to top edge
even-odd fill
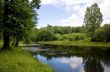
[[[10,48],[10,34],[8,31],[9,23],[7,22],[9,20],[10,15],[10,8],[9,8],[9,0],[4,1],[4,19],[3,19],[3,48],[2,49],[9,49]]]

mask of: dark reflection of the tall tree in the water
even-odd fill
[[[94,52],[95,51],[95,52]],[[88,53],[86,57],[84,57],[84,70],[86,72],[104,72],[104,68],[101,64],[102,57],[100,51],[94,50],[93,52]]]

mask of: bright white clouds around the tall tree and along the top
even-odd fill
[[[65,11],[71,13],[70,17],[61,20],[63,25],[81,26],[87,6],[91,6],[94,2],[101,8],[103,23],[110,22],[110,0],[41,0],[41,2],[42,5],[64,7]]]

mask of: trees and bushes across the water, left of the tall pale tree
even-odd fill
[[[51,26],[42,27],[38,29],[36,41],[53,41],[53,40],[69,40],[78,41],[85,40],[85,28],[71,27],[71,26]]]

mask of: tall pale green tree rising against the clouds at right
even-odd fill
[[[87,31],[94,32],[95,29],[99,28],[103,21],[102,17],[97,3],[94,3],[91,7],[87,7],[84,16],[84,23]]]

